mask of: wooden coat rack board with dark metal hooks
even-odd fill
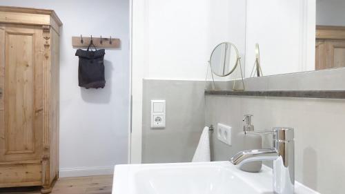
[[[90,41],[93,41],[93,44],[97,48],[119,48],[120,47],[120,39],[114,39],[112,37],[104,38],[104,37],[72,37],[72,46],[73,47],[88,47]],[[110,41],[111,40],[111,41]]]

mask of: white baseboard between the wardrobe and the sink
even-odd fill
[[[96,175],[112,175],[114,166],[92,167],[92,168],[61,168],[59,177],[86,177]]]

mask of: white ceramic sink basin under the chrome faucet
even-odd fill
[[[112,194],[273,194],[272,170],[240,171],[230,162],[115,166]],[[296,183],[295,193],[315,191]]]

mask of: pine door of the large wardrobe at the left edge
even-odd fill
[[[1,160],[40,159],[42,151],[43,115],[40,114],[42,90],[38,89],[42,59],[41,30],[28,26],[5,26],[5,63],[3,79],[3,120],[1,130],[4,136],[4,149]],[[39,107],[37,107],[37,105]]]

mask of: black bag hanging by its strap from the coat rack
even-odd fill
[[[89,50],[93,45],[95,51]],[[79,57],[78,79],[79,86],[83,88],[104,88],[106,79],[104,78],[104,49],[97,50],[90,41],[88,50],[78,49],[75,56]]]

